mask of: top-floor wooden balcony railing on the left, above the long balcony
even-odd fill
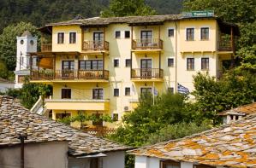
[[[83,42],[83,50],[109,50],[110,43],[106,41],[85,41]]]

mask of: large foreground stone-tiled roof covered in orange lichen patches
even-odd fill
[[[204,165],[256,167],[256,114],[200,134],[128,153]]]

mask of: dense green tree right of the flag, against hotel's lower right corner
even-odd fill
[[[196,100],[193,111],[213,119],[214,125],[220,122],[217,113],[256,100],[256,75],[250,72],[230,71],[219,81],[198,73],[193,79],[195,90],[192,94]]]

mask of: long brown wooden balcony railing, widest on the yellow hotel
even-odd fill
[[[52,79],[109,79],[107,70],[32,70],[32,80]]]

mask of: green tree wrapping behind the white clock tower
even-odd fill
[[[9,25],[3,29],[0,35],[0,59],[6,64],[9,71],[14,71],[16,66],[16,37],[29,31],[33,36],[39,36],[37,27],[31,23],[20,22]]]

